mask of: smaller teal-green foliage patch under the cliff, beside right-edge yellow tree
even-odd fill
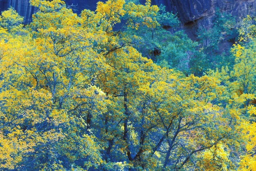
[[[200,27],[197,33],[201,51],[205,54],[204,65],[202,65],[204,71],[209,68],[232,67],[234,64],[234,58],[229,49],[221,48],[219,45],[224,41],[230,41],[231,44],[232,41],[235,42],[234,40],[238,36],[235,29],[235,18],[231,14],[221,13],[217,10],[212,22],[211,28]]]

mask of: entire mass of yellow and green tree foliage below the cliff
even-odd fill
[[[256,170],[249,16],[233,64],[214,65],[208,52],[233,25],[222,14],[198,33],[212,43],[202,50],[149,0],[79,16],[61,0],[31,4],[26,27],[13,8],[0,16],[0,170]]]

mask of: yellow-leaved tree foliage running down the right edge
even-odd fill
[[[222,68],[209,72],[209,76],[218,78],[224,87],[226,112],[240,122],[235,126],[239,132],[236,146],[243,146],[238,170],[256,170],[255,132],[255,76],[256,76],[256,42],[255,25],[250,16],[247,16],[239,28],[239,43],[233,45],[231,52],[235,56],[233,69]],[[240,145],[239,145],[240,144]]]

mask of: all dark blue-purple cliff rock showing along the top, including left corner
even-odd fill
[[[64,0],[74,12],[80,13],[84,8],[95,10],[98,0]],[[104,0],[105,1],[105,0]],[[144,3],[145,0],[140,0]],[[212,23],[215,11],[230,13],[239,18],[256,11],[256,0],[152,0],[152,4],[166,6],[167,11],[177,13],[182,27],[193,38],[199,26],[208,27]],[[12,6],[24,17],[24,22],[31,22],[36,8],[29,6],[29,0],[0,0],[0,11]],[[194,35],[195,36],[195,35]]]

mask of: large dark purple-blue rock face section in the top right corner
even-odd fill
[[[256,14],[256,0],[152,0],[152,3],[163,4],[166,11],[177,13],[183,29],[193,40],[200,26],[211,26],[216,9],[232,14],[236,20]]]

